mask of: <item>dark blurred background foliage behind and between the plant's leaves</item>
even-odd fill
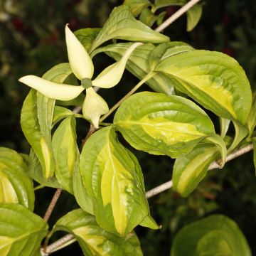
[[[23,75],[43,75],[53,65],[67,61],[64,27],[75,31],[101,27],[118,0],[0,0],[0,145],[28,153],[29,146],[19,124],[20,111],[28,88],[17,82]],[[166,18],[176,6],[166,9]],[[218,50],[233,56],[245,69],[255,90],[256,80],[256,1],[205,0],[198,26],[186,32],[185,16],[166,29],[172,41],[185,41],[195,48]],[[99,70],[111,59],[100,55]],[[129,73],[121,84],[102,96],[113,105],[137,82]],[[149,90],[146,85],[143,90]],[[78,143],[85,136],[85,122],[78,121]],[[122,138],[121,142],[122,141]],[[125,142],[123,142],[125,144]],[[126,145],[127,146],[127,145]],[[134,151],[134,149],[133,149]],[[171,178],[173,161],[166,156],[149,156],[134,151],[144,172],[146,190]],[[43,215],[54,190],[36,191],[36,213]],[[210,171],[188,198],[166,191],[149,199],[151,214],[161,230],[137,228],[144,255],[169,255],[176,232],[188,223],[212,213],[223,213],[235,220],[256,255],[256,178],[252,153]],[[66,212],[77,208],[72,196],[63,193],[50,225]],[[60,236],[61,234],[59,234]],[[57,238],[57,237],[56,237]],[[70,245],[55,255],[82,255],[78,245]]]

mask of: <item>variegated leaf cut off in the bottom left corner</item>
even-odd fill
[[[48,225],[24,206],[0,203],[0,255],[33,256]]]

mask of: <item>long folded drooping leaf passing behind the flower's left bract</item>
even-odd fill
[[[53,82],[63,82],[71,73],[70,65],[62,63],[48,70],[43,78]],[[31,90],[21,110],[21,128],[41,162],[43,175],[46,178],[53,175],[55,168],[50,142],[54,104],[55,100]]]

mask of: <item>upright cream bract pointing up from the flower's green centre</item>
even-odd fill
[[[68,24],[65,26],[65,40],[68,50],[68,60],[75,76],[79,80],[92,78],[94,71],[92,59],[82,46],[82,43],[70,31]]]

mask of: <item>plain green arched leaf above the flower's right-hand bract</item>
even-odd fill
[[[115,7],[107,22],[92,43],[92,50],[110,39],[123,39],[129,41],[162,43],[169,41],[168,36],[153,31],[144,23],[134,18],[129,6],[122,5]]]

